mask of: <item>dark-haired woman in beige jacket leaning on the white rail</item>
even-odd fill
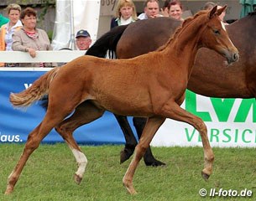
[[[36,17],[37,13],[33,8],[25,8],[20,14],[24,27],[13,33],[13,50],[28,52],[32,58],[36,56],[36,51],[51,50],[47,33],[42,29],[36,28]],[[53,64],[26,63],[24,66],[52,67]]]

